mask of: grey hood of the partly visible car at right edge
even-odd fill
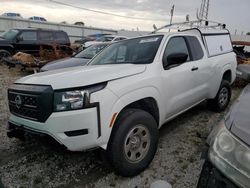
[[[250,146],[250,84],[242,91],[226,119],[227,128]]]

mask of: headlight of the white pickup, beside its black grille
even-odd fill
[[[90,105],[90,94],[103,89],[106,83],[96,84],[92,87],[69,91],[56,91],[54,93],[54,111],[68,111],[83,109]]]

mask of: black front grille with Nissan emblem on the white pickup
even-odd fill
[[[21,118],[45,122],[52,113],[51,86],[14,84],[8,90],[10,112]]]

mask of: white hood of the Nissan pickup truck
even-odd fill
[[[65,89],[132,76],[145,70],[146,65],[88,65],[37,73],[23,77],[15,83],[51,85],[53,89]]]

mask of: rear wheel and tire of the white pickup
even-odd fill
[[[231,86],[227,80],[222,80],[219,91],[214,99],[208,100],[211,110],[221,112],[226,109],[231,99]]]

